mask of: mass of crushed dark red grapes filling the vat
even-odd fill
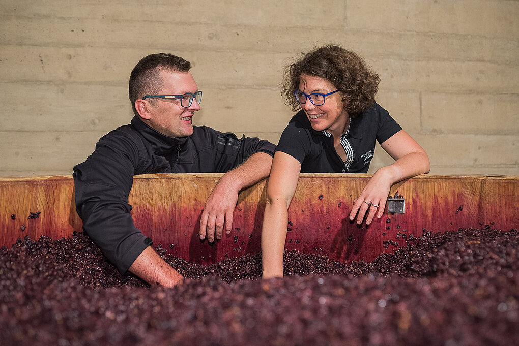
[[[120,275],[83,233],[0,249],[6,345],[489,345],[519,323],[516,229],[426,232],[375,261],[285,251],[202,266],[156,251],[186,278],[173,289]]]

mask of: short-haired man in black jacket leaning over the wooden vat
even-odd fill
[[[209,195],[200,239],[230,233],[238,193],[266,178],[275,146],[193,126],[202,92],[191,64],[172,54],[144,57],[132,70],[129,98],[135,117],[103,136],[84,163],[74,167],[76,210],[85,232],[121,273],[171,287],[182,276],[133,224],[128,204],[133,176],[145,173],[226,172]]]

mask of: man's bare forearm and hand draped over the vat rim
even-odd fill
[[[272,156],[264,152],[251,155],[238,167],[228,171],[218,180],[206,200],[200,219],[200,239],[212,242],[221,239],[223,226],[227,234],[233,229],[233,214],[238,193],[244,188],[268,177]]]

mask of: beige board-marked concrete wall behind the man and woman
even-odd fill
[[[130,71],[156,52],[193,63],[195,124],[277,143],[283,67],[328,43],[373,66],[431,174],[519,175],[517,18],[509,0],[2,0],[0,176],[71,174],[130,121]],[[378,147],[370,171],[391,162]]]

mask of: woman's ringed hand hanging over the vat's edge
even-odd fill
[[[357,223],[361,224],[365,217],[366,225],[369,225],[375,215],[377,219],[382,217],[392,184],[392,179],[387,174],[387,168],[382,167],[377,170],[362,190],[359,198],[353,200],[350,220],[357,215]]]

